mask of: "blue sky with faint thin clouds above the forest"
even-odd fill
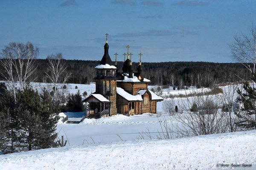
[[[0,49],[32,42],[38,58],[234,62],[229,44],[256,24],[255,0],[0,0]]]

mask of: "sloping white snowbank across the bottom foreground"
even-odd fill
[[[256,131],[84,144],[0,156],[1,170],[256,169]],[[224,164],[230,167],[218,167]],[[242,167],[249,164],[250,167]]]

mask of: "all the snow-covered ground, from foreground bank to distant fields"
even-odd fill
[[[51,89],[44,83],[33,83],[33,88]],[[75,86],[78,89],[75,89]],[[228,87],[224,86],[227,93]],[[151,87],[149,87],[151,89]],[[66,94],[82,94],[95,91],[95,84],[67,84]],[[207,91],[207,88],[203,89]],[[195,88],[173,91],[163,89],[163,94],[200,93]],[[189,99],[192,99],[191,97]],[[166,100],[166,99],[165,99]],[[172,99],[178,105],[180,98]],[[256,131],[196,136],[165,140],[138,140],[142,132],[150,132],[157,139],[160,122],[169,127],[180,127],[177,118],[163,113],[163,101],[157,102],[160,117],[149,113],[134,116],[121,114],[101,118],[84,119],[80,124],[57,124],[58,136],[68,140],[66,147],[14,153],[0,156],[0,170],[12,169],[220,169],[217,164],[253,164],[256,169]],[[72,117],[74,113],[66,113]],[[84,115],[79,113],[79,118]],[[61,113],[61,116],[65,116]],[[75,118],[74,118],[75,119]],[[145,139],[148,139],[145,136]],[[236,167],[251,169],[251,167]]]

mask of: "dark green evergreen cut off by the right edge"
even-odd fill
[[[251,80],[253,80],[252,85],[249,82],[244,82],[244,91],[240,89],[237,91],[244,104],[245,113],[236,113],[240,118],[236,124],[247,129],[256,129],[256,73],[252,75]]]

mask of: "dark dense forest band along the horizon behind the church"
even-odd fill
[[[46,77],[47,59],[35,59],[37,65],[31,81],[49,82]],[[99,61],[91,60],[65,60],[67,72],[72,77],[67,83],[89,84],[95,82],[94,67]],[[123,62],[117,67],[122,71]],[[138,63],[133,63],[134,72]],[[3,72],[3,68],[0,67]],[[241,63],[213,63],[213,62],[143,62],[143,76],[151,80],[151,85],[175,85],[182,88],[186,86],[208,87],[216,83],[237,82],[249,79],[250,72]],[[0,77],[3,80],[3,77]]]

